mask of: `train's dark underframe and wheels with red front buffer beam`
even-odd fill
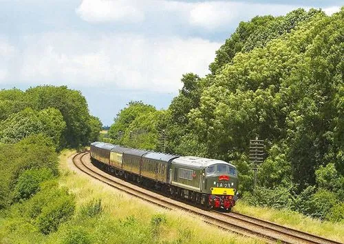
[[[230,211],[232,210],[232,207],[235,206],[235,197],[232,195],[213,195],[194,192],[175,185],[162,183],[160,181],[154,181],[144,176],[127,172],[112,165],[102,163],[96,159],[91,159],[92,163],[96,165],[96,167],[100,167],[102,170],[105,170],[111,175],[125,179],[126,181],[132,181],[133,183],[143,185],[144,187],[147,187],[151,190],[157,190],[159,192],[162,192],[163,194],[172,196],[175,199],[180,199],[194,203],[195,205],[200,205],[206,210],[223,209],[226,211]]]

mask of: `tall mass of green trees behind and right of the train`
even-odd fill
[[[332,16],[299,9],[241,22],[217,50],[211,74],[183,75],[162,121],[147,110],[127,119],[125,108],[112,138],[122,130],[120,142],[138,147],[143,143],[127,140],[126,130],[149,122],[158,128],[153,134],[164,130],[166,152],[234,163],[249,203],[338,220],[330,213],[344,199],[343,42],[344,8]],[[147,148],[161,148],[157,136],[140,136]],[[265,140],[266,160],[253,190],[248,154],[256,136]]]

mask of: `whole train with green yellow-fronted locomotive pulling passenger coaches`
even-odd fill
[[[178,156],[96,141],[91,161],[126,181],[158,190],[207,210],[232,210],[238,198],[235,165],[217,159]]]

